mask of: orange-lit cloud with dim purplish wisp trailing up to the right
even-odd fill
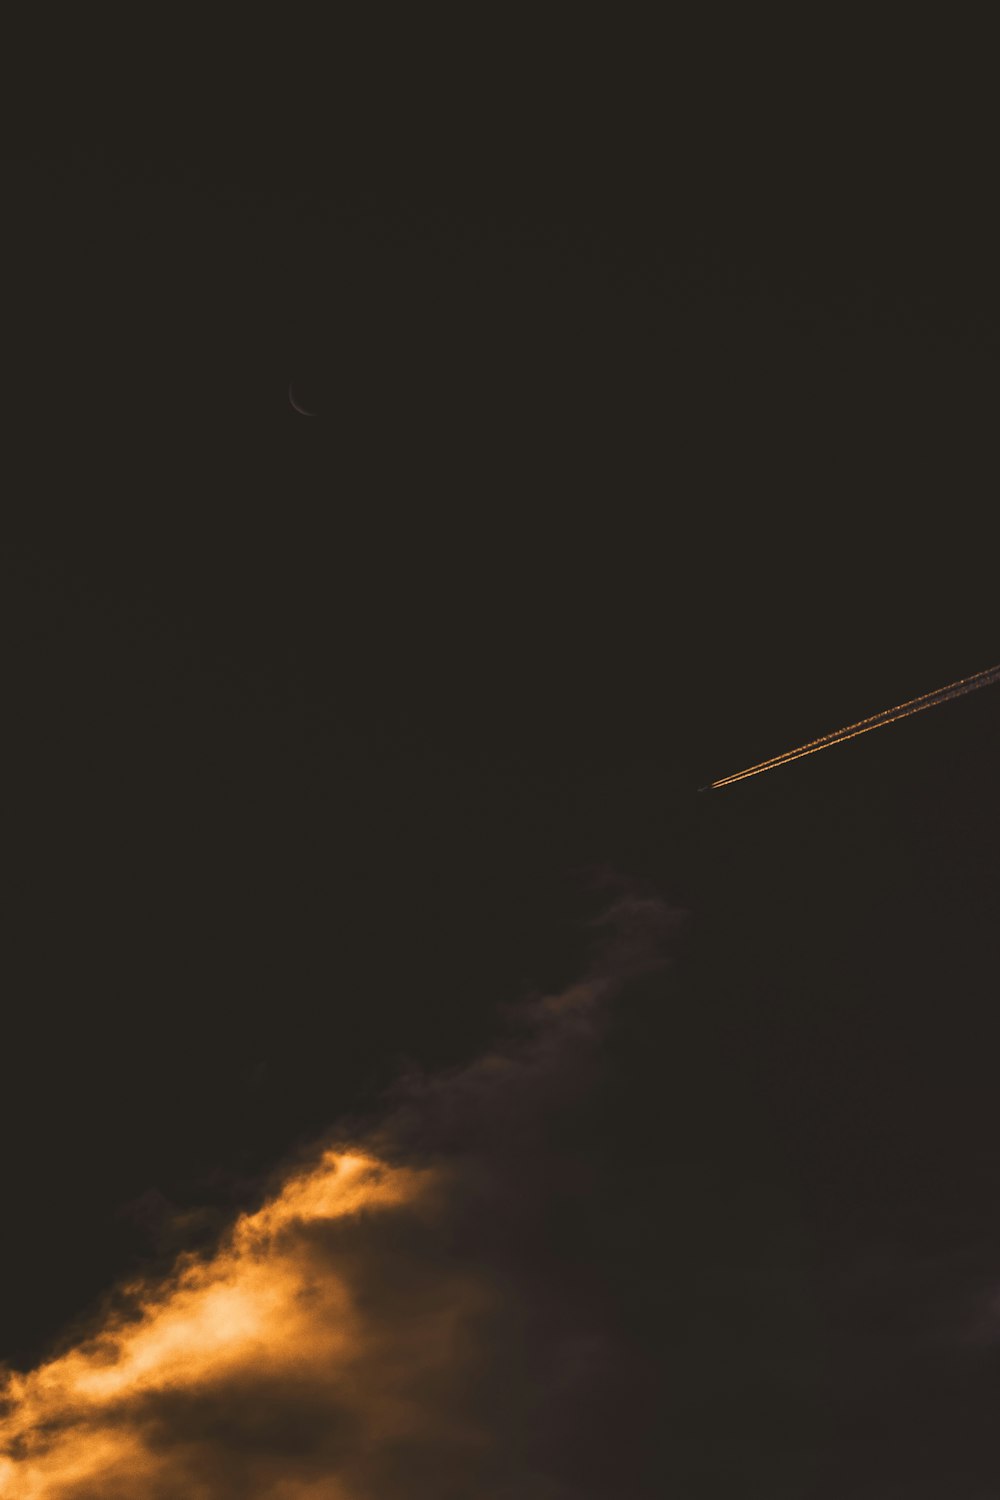
[[[211,1250],[9,1371],[0,1497],[615,1492],[607,1436],[642,1420],[646,1374],[609,1280],[592,1100],[612,1000],[663,968],[673,927],[619,894],[591,972],[514,1006],[504,1044],[403,1077]]]

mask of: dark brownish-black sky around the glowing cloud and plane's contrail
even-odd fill
[[[405,1473],[294,1382],[259,1468],[145,1413],[207,1496],[981,1500],[999,690],[696,788],[1000,660],[996,118],[912,38],[579,40],[64,36],[12,110],[0,1359],[376,1119],[463,1186],[364,1305],[505,1288],[474,1407]],[[612,970],[519,1134],[505,1006]]]

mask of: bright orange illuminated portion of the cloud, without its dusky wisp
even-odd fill
[[[477,1293],[451,1278],[447,1298],[418,1296],[406,1310],[408,1326],[387,1330],[379,1326],[384,1311],[367,1305],[370,1288],[357,1251],[358,1230],[372,1239],[375,1220],[394,1220],[400,1230],[408,1220],[412,1238],[414,1226],[433,1215],[435,1180],[429,1170],[327,1150],[259,1212],[243,1215],[214,1256],[187,1257],[162,1286],[127,1287],[124,1310],[96,1336],[28,1374],[7,1377],[0,1496],[172,1494],[180,1468],[190,1500],[214,1497],[220,1478],[199,1478],[198,1450],[204,1444],[205,1455],[216,1452],[217,1436],[199,1434],[196,1410],[180,1424],[171,1413],[199,1406],[210,1428],[213,1395],[223,1392],[231,1407],[240,1388],[250,1408],[259,1404],[264,1422],[268,1392],[280,1388],[307,1402],[310,1392],[334,1386],[337,1410],[364,1404],[354,1430],[366,1440],[393,1444],[418,1436],[426,1412],[414,1389],[454,1359],[460,1323]],[[378,1236],[373,1252],[379,1254]],[[387,1332],[393,1348],[385,1347]],[[241,1420],[237,1414],[235,1437]],[[186,1434],[180,1440],[178,1426]],[[268,1461],[252,1452],[252,1430],[243,1437],[255,1485],[264,1482],[276,1500],[358,1492],[352,1480],[331,1476],[321,1455],[315,1482],[283,1478],[280,1460],[273,1473],[261,1473],[261,1461],[265,1468]],[[474,1443],[475,1436],[465,1432],[463,1440]],[[178,1452],[178,1442],[187,1452]]]

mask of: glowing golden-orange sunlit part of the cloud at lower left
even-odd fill
[[[226,1242],[207,1258],[187,1257],[165,1286],[133,1284],[120,1311],[91,1340],[28,1374],[10,1374],[0,1404],[0,1496],[63,1500],[90,1494],[160,1492],[177,1454],[156,1434],[156,1400],[211,1395],[234,1378],[342,1382],[349,1392],[376,1330],[360,1305],[349,1238],[340,1274],[316,1228],[372,1216],[427,1214],[438,1180],[430,1170],[391,1167],[370,1155],[327,1150],[255,1214],[237,1220]],[[454,1293],[454,1286],[451,1292]],[[451,1316],[468,1298],[451,1298]],[[451,1329],[438,1322],[421,1350],[433,1366],[450,1358]],[[435,1341],[438,1348],[435,1350]],[[412,1366],[408,1378],[412,1377]],[[372,1398],[366,1382],[366,1400]],[[391,1370],[378,1413],[379,1442],[411,1434],[423,1413],[393,1390]],[[372,1410],[364,1413],[366,1425]],[[196,1466],[195,1466],[196,1468]],[[306,1497],[354,1494],[324,1476],[292,1488],[274,1474],[268,1492]],[[213,1496],[186,1476],[186,1492]],[[171,1491],[166,1491],[171,1492]]]

